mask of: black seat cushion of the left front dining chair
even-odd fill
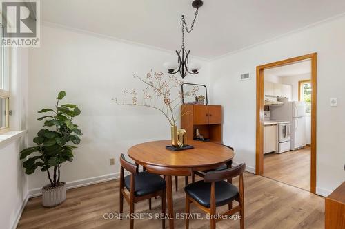
[[[135,174],[135,191],[134,195],[142,196],[155,193],[158,190],[166,188],[166,182],[159,175],[141,172]],[[124,178],[124,183],[128,191],[130,191],[130,175]]]

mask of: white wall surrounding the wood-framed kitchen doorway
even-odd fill
[[[286,58],[317,52],[317,193],[327,195],[345,179],[345,17],[288,34],[216,59],[210,65],[211,97],[224,106],[225,144],[235,148],[235,162],[255,168],[255,75],[239,74]],[[338,106],[330,107],[329,98]]]

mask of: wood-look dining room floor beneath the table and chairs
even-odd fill
[[[184,177],[174,191],[174,210],[184,212]],[[238,185],[238,179],[233,184]],[[324,228],[324,198],[273,179],[244,174],[245,228]],[[161,199],[135,205],[135,212],[160,213]],[[226,207],[217,208],[221,211]],[[124,213],[128,213],[124,201]],[[30,199],[18,228],[129,228],[129,220],[103,219],[103,214],[119,211],[119,181],[104,182],[67,191],[67,200],[54,208],[43,208],[41,197]],[[191,212],[206,215],[192,204]],[[190,228],[209,228],[208,219],[191,219]],[[175,219],[175,228],[184,228],[184,219]],[[159,219],[137,219],[135,228],[161,228]],[[168,228],[168,221],[166,221]],[[217,228],[239,228],[239,220],[226,219]]]

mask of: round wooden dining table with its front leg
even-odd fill
[[[145,142],[132,146],[128,156],[150,173],[164,175],[168,201],[169,228],[174,228],[172,201],[172,176],[190,176],[194,171],[205,171],[228,164],[233,160],[233,151],[213,142],[188,141],[194,149],[169,151],[169,140]]]

